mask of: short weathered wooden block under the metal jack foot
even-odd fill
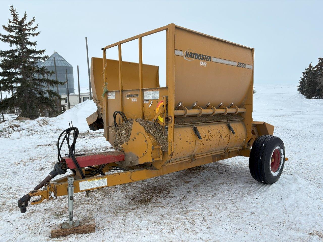
[[[54,224],[51,226],[51,237],[57,238],[57,237],[63,237],[70,234],[89,234],[95,232],[95,220],[89,219],[89,220],[83,220],[80,221],[80,225],[78,227],[72,227],[72,228],[62,228],[62,224]]]

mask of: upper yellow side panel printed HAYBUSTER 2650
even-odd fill
[[[182,102],[190,108],[196,101],[199,106],[244,102],[252,88],[252,69],[234,63],[253,65],[251,49],[176,28],[175,50],[183,51],[183,56],[175,55],[175,106]],[[192,53],[190,57],[186,51]],[[218,63],[225,61],[230,64]]]

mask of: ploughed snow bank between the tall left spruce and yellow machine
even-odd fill
[[[97,110],[97,106],[92,100],[86,100],[75,105],[65,113],[54,117],[40,117],[34,120],[7,120],[0,124],[0,138],[18,139],[22,136],[34,134],[59,133],[68,128],[68,121],[73,122],[80,132],[89,129],[86,118]]]

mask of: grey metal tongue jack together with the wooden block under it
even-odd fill
[[[95,220],[73,221],[74,177],[69,176],[68,182],[68,222],[54,224],[51,227],[51,237],[57,238],[70,234],[89,234],[95,232]]]

